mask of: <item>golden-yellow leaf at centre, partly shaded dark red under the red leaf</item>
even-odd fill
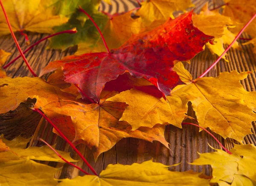
[[[162,125],[171,123],[181,128],[186,110],[180,112],[175,106],[186,108],[187,104],[187,102],[180,102],[179,97],[177,97],[176,105],[170,104],[154,86],[126,90],[111,97],[108,101],[126,102],[129,105],[119,120],[128,122],[132,126],[132,130],[141,126],[151,128],[157,123]]]

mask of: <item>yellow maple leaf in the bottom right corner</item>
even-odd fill
[[[212,179],[210,183],[225,186],[253,186],[256,183],[256,147],[253,144],[236,145],[230,150],[233,154],[215,149],[217,152],[203,153],[192,165],[211,165]],[[243,157],[240,157],[243,156]]]

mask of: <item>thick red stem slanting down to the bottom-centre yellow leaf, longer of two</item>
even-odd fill
[[[81,154],[81,152],[79,152],[79,150],[73,145],[72,142],[70,142],[69,139],[67,139],[67,137],[58,129],[58,127],[56,127],[56,125],[54,125],[51,120],[49,120],[49,118],[47,118],[47,116],[44,115],[44,113],[41,112],[41,110],[39,110],[38,108],[32,108],[33,111],[38,112],[41,114],[41,116],[44,117],[44,119],[47,120],[47,122],[49,122],[52,127],[58,132],[58,134],[70,145],[71,148],[73,148],[74,151],[76,151],[76,153],[81,157],[81,159],[84,161],[84,163],[89,167],[89,169],[93,172],[93,174],[95,174],[96,176],[98,176],[98,174],[96,173],[96,171],[93,169],[93,167],[87,162],[87,160],[84,158],[84,156]]]

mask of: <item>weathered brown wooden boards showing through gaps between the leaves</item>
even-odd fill
[[[106,3],[102,3],[100,6],[101,9],[104,9],[106,12],[123,12],[129,9],[133,9],[137,6],[136,0],[112,0],[113,5],[108,6]],[[200,10],[201,7],[206,3],[205,0],[196,0],[194,1],[196,4],[196,11]],[[210,2],[210,8],[213,7],[212,1]],[[215,6],[221,5],[222,2],[218,1],[215,2]],[[41,38],[44,38],[46,35],[42,34],[33,34],[29,33],[29,40],[31,43],[38,41]],[[246,34],[242,35],[243,38],[248,38]],[[18,41],[21,45],[22,49],[26,48],[24,43],[24,38],[20,35],[17,35]],[[239,41],[240,44],[244,41]],[[72,55],[76,51],[76,47],[67,49],[66,51],[61,52],[60,50],[52,50],[46,49],[47,42],[43,42],[38,44],[38,46],[34,47],[26,54],[26,58],[28,59],[29,63],[31,64],[32,68],[34,69],[35,73],[39,74],[40,69],[45,67],[50,61],[54,61],[57,59],[61,59],[66,55]],[[11,36],[5,36],[0,38],[0,48],[6,50],[7,52],[11,52],[12,55],[10,59],[15,58],[19,55],[15,44],[11,38]],[[232,70],[237,70],[239,72],[242,71],[253,71],[256,70],[256,55],[252,53],[252,46],[241,46],[241,50],[230,49],[228,52],[228,60],[229,63],[224,62],[223,60],[212,69],[207,76],[218,76],[220,72],[228,71],[231,72]],[[212,55],[208,50],[199,53],[194,59],[192,59],[192,63],[186,64],[186,69],[192,73],[193,77],[198,77],[207,67],[215,61],[217,57]],[[6,63],[7,63],[6,62]],[[23,60],[19,59],[15,64],[11,67],[7,68],[7,75],[9,77],[23,77],[29,76],[32,77],[29,70],[26,68],[25,63]],[[248,78],[242,81],[242,84],[248,91],[255,91],[256,87],[256,77],[255,73],[249,74]],[[192,110],[189,110],[188,113],[190,115],[194,115]],[[9,117],[6,115],[6,117]],[[27,117],[29,119],[29,117]],[[39,117],[40,119],[40,117]],[[3,121],[5,120],[4,116],[0,117],[0,126],[3,126]],[[29,121],[32,121],[31,119]],[[6,122],[6,121],[5,121]],[[17,125],[23,125],[26,122],[26,118],[23,121],[17,121]],[[20,124],[23,123],[23,124]],[[32,122],[31,122],[32,123]],[[31,125],[34,125],[33,123]],[[244,144],[253,143],[256,145],[256,125],[253,122],[252,132],[253,134],[247,135],[244,138]],[[33,126],[32,126],[33,127]],[[35,128],[35,126],[34,126]],[[0,130],[2,130],[0,128]],[[21,127],[22,130],[22,127]],[[199,157],[198,152],[205,153],[213,151],[209,146],[211,145],[214,148],[220,148],[217,142],[212,139],[206,132],[202,131],[199,133],[198,128],[194,126],[184,126],[183,129],[176,128],[172,125],[168,125],[165,131],[166,140],[171,144],[170,149],[167,149],[160,142],[146,142],[140,139],[133,139],[127,138],[120,140],[111,150],[102,153],[98,160],[95,162],[93,159],[92,151],[85,147],[84,145],[79,145],[79,150],[82,154],[84,154],[85,158],[88,162],[94,167],[96,172],[102,171],[105,169],[108,164],[127,164],[130,165],[132,163],[141,163],[145,160],[150,160],[153,158],[154,161],[160,162],[166,165],[172,165],[175,163],[180,163],[179,166],[175,166],[171,168],[174,171],[203,171],[205,174],[210,174],[209,166],[192,166],[189,162],[192,162],[196,158]],[[224,140],[219,135],[214,134],[215,137],[218,138],[225,145],[228,149],[233,147],[232,139]],[[34,139],[36,137],[42,137],[46,139],[47,142],[50,144],[54,144],[57,142],[56,148],[59,150],[70,151],[71,149],[68,148],[66,142],[64,142],[60,137],[57,137],[56,134],[52,133],[52,127],[47,125],[45,121],[41,122],[40,127],[38,127],[38,131],[35,132]],[[39,143],[37,140],[33,141],[31,145],[38,145],[41,146],[43,144]],[[72,153],[74,158],[77,158],[76,154]],[[57,163],[49,163],[45,162],[51,166],[60,166]],[[88,168],[83,165],[81,161],[77,162],[76,165],[82,167],[86,171],[89,171]],[[90,172],[90,171],[89,171]],[[90,172],[91,173],[91,172]],[[79,172],[77,169],[69,165],[64,165],[64,169],[61,172],[56,174],[56,177],[64,178],[72,178],[76,177],[77,175],[83,175],[83,173]]]

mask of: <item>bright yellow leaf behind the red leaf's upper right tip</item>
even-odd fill
[[[199,15],[193,15],[192,20],[202,32],[214,36],[214,44],[206,44],[212,54],[220,56],[225,50],[223,44],[231,44],[236,38],[236,35],[228,30],[228,28],[234,28],[237,25],[236,21],[233,21],[230,17],[220,15],[218,10],[209,11],[208,3],[202,8]],[[236,41],[232,47],[239,48],[238,42]],[[227,61],[225,55],[222,58]]]

